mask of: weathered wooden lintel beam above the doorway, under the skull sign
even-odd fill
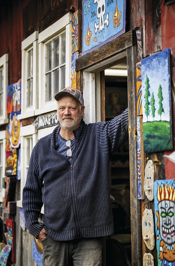
[[[107,44],[76,59],[76,71],[83,70],[136,44],[135,30],[126,32]]]

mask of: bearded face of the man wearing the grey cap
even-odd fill
[[[57,115],[63,129],[71,131],[80,126],[84,106],[69,95],[61,96],[57,103]]]

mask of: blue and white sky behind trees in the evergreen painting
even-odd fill
[[[171,87],[170,87],[170,64],[169,64],[169,53],[170,48],[165,49],[155,55],[148,56],[141,61],[141,80],[142,80],[142,108],[143,108],[143,122],[147,122],[147,116],[145,114],[145,89],[146,89],[146,75],[149,78],[150,84],[150,97],[148,101],[150,102],[150,114],[148,116],[148,121],[153,121],[152,111],[151,111],[151,97],[154,93],[155,99],[155,117],[154,121],[160,120],[160,115],[158,115],[159,110],[159,98],[158,90],[159,85],[162,86],[162,105],[164,113],[161,115],[161,120],[170,121],[170,103],[171,103]]]

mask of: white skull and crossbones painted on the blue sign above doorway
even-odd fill
[[[106,1],[105,0],[94,0],[94,4],[97,3],[97,18],[99,19],[99,24],[95,22],[95,34],[97,34],[97,30],[99,29],[99,33],[104,30],[104,25],[108,27],[109,25],[109,13],[106,14],[106,19],[104,19],[104,15],[106,12]]]

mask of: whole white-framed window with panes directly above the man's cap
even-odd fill
[[[71,14],[38,34],[38,110],[55,110],[55,94],[71,84]]]

